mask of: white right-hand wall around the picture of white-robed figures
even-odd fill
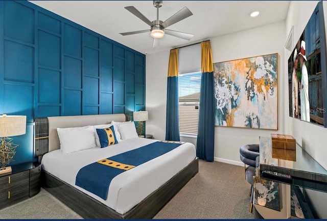
[[[295,47],[295,42],[300,38],[303,30],[305,29],[310,16],[312,15],[314,9],[317,6],[318,1],[291,1],[288,16],[286,19],[286,33],[291,31],[292,26],[294,26],[293,32],[293,45]],[[323,12],[325,19],[325,27],[327,24],[327,3],[323,1]],[[286,51],[285,56],[288,58],[292,52]],[[285,71],[287,72],[287,61],[285,60]],[[285,73],[286,73],[285,72]],[[285,81],[287,77],[285,77]],[[288,105],[287,94],[285,95],[285,105]],[[285,123],[289,124],[289,132],[293,135],[302,148],[305,149],[309,154],[325,169],[327,169],[327,128],[314,125],[309,122],[300,121],[288,117],[285,118]],[[326,201],[327,193],[305,190],[310,198],[311,203],[319,216],[319,218],[327,217]]]

